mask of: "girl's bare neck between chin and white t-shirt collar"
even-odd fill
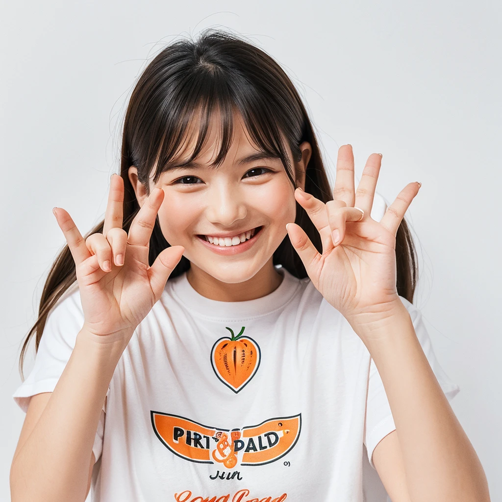
[[[187,271],[187,279],[197,293],[210,300],[243,302],[272,293],[281,284],[283,276],[274,268],[271,259],[252,278],[240,283],[218,281],[193,263]]]

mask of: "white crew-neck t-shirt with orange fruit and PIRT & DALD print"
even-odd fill
[[[368,350],[311,281],[283,268],[267,296],[220,302],[168,280],[109,385],[96,502],[362,502],[364,455],[396,427]],[[441,388],[459,391],[420,311],[401,298]],[[50,313],[13,397],[51,392],[83,324],[78,289]],[[233,339],[232,339],[233,338]],[[364,447],[363,447],[364,445]]]

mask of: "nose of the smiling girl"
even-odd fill
[[[234,185],[213,185],[208,195],[206,215],[211,223],[231,226],[235,221],[246,217],[247,208],[243,194]]]

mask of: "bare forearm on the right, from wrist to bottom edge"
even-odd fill
[[[413,502],[488,502],[481,463],[422,350],[404,305],[389,318],[353,326],[379,370]],[[367,336],[365,336],[367,335]]]

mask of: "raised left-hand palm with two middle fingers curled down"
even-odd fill
[[[94,334],[123,333],[127,338],[159,300],[185,248],[164,249],[150,267],[150,236],[164,191],[151,192],[129,234],[122,229],[123,195],[123,180],[113,175],[103,233],[93,233],[85,241],[67,211],[58,207],[53,212],[75,262],[84,327]]]

